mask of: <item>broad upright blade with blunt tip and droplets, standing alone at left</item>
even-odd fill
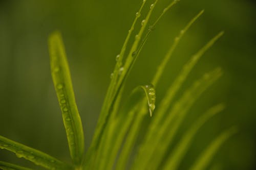
[[[84,153],[84,137],[81,118],[76,106],[65,47],[59,32],[49,37],[52,79],[62,111],[73,162],[79,165]]]

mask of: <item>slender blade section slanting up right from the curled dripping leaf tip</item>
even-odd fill
[[[185,26],[183,30],[180,31],[180,34],[175,38],[173,45],[169,48],[169,51],[165,55],[164,59],[162,60],[161,64],[158,66],[157,72],[152,80],[152,84],[157,86],[158,81],[163,74],[163,71],[168,63],[170,57],[172,57],[174,50],[176,49],[177,45],[179,44],[183,35],[187,32],[187,30],[193,25],[193,23],[203,14],[204,10],[200,11],[193,19],[191,19],[188,24]]]

